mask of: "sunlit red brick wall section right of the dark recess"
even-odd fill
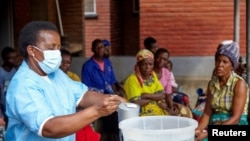
[[[240,1],[240,52],[246,53],[246,1]],[[147,36],[171,56],[210,56],[218,43],[234,38],[233,0],[140,1],[140,47]]]

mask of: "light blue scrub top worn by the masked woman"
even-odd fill
[[[9,118],[6,141],[74,141],[75,134],[51,139],[41,136],[42,125],[50,117],[73,114],[87,86],[71,80],[60,69],[48,80],[23,61],[12,78],[6,95]],[[58,125],[60,126],[60,125]]]

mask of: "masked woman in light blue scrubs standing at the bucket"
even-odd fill
[[[74,141],[74,133],[112,114],[123,98],[89,91],[62,70],[57,27],[46,21],[28,23],[19,37],[24,60],[6,96],[9,124],[6,141]],[[76,113],[76,107],[84,110]]]

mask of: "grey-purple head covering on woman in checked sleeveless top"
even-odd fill
[[[219,55],[227,56],[232,62],[233,68],[236,69],[239,60],[239,44],[231,40],[221,42],[215,53],[215,59]]]

